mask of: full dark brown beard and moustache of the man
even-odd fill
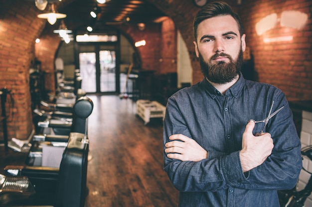
[[[224,61],[220,61],[213,64],[212,60],[218,56],[227,57],[230,62],[225,63]],[[233,61],[230,55],[217,53],[210,58],[209,63],[206,63],[199,53],[199,63],[202,73],[209,81],[217,84],[225,84],[234,80],[240,73],[243,64],[243,50],[242,48],[240,49],[236,61]]]

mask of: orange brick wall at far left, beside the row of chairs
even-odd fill
[[[42,30],[34,9],[30,3],[20,6],[17,0],[1,1],[0,88],[6,87],[12,95],[6,102],[8,138],[28,138],[33,129],[29,68],[34,61],[35,36]],[[0,125],[0,137],[2,132]]]

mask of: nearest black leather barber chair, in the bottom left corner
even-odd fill
[[[71,133],[59,168],[7,166],[0,183],[0,206],[84,207],[88,151],[85,134]]]

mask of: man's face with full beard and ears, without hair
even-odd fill
[[[240,37],[238,25],[230,15],[202,21],[194,42],[196,56],[205,77],[224,84],[237,77],[245,51],[245,35]]]

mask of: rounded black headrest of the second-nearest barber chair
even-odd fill
[[[90,98],[83,96],[77,99],[73,106],[73,113],[81,118],[86,119],[90,116],[93,110],[93,102]]]

